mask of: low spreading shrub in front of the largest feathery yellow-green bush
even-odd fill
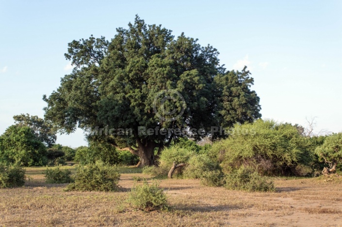
[[[249,192],[274,192],[276,190],[273,181],[268,181],[252,169],[244,167],[227,175],[225,187]]]

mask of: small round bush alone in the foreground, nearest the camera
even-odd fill
[[[163,189],[159,188],[159,184],[156,181],[148,184],[145,180],[142,185],[133,187],[130,192],[129,201],[135,208],[144,211],[167,208],[166,195]]]

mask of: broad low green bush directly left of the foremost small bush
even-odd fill
[[[117,166],[96,162],[88,166],[78,166],[74,174],[74,183],[66,191],[117,191],[120,173]]]

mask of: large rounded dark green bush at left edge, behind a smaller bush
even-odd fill
[[[44,166],[47,149],[27,126],[12,125],[0,136],[0,162],[23,166]]]

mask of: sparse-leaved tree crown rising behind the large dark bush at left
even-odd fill
[[[30,114],[16,115],[13,119],[17,126],[30,127],[33,134],[46,146],[51,147],[55,143],[57,139],[56,131],[50,122],[38,118],[38,116],[30,116]]]

